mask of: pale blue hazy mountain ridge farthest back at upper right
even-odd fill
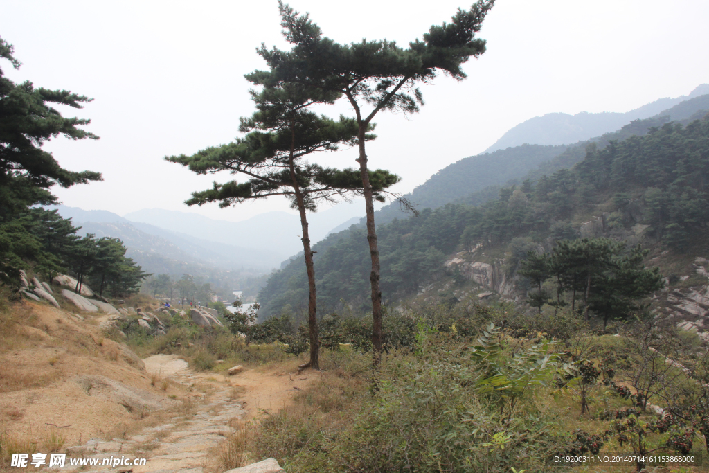
[[[659,99],[626,113],[547,113],[511,128],[485,152],[503,150],[525,143],[533,145],[563,145],[588,140],[594,136],[618,130],[630,121],[649,118],[687,99],[709,94],[709,84],[702,84],[687,96]]]

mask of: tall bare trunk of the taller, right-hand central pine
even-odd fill
[[[376,243],[376,228],[374,227],[374,195],[372,184],[369,182],[369,169],[367,168],[367,152],[364,150],[364,134],[367,124],[359,124],[359,172],[362,174],[362,190],[364,194],[364,208],[367,211],[367,242],[369,255],[372,257],[372,272],[369,273],[369,282],[372,284],[372,369],[378,369],[381,361],[381,288],[379,286],[380,267],[379,247]]]

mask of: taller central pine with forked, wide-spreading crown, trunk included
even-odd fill
[[[344,96],[354,109],[359,138],[359,171],[362,178],[365,209],[367,211],[367,241],[372,258],[372,345],[373,366],[381,357],[381,287],[379,247],[374,226],[374,188],[370,176],[365,135],[379,111],[401,111],[405,115],[418,111],[423,96],[416,87],[430,82],[437,72],[462,80],[461,69],[470,57],[485,52],[485,41],[475,38],[494,0],[480,0],[469,11],[459,9],[451,23],[431,26],[423,41],[399,48],[387,40],[362,40],[360,43],[340,45],[322,36],[320,28],[308,14],[301,15],[279,1],[281,26],[293,48],[281,51],[264,46],[259,54],[264,57],[279,82],[318,87]],[[365,108],[370,106],[369,111]]]

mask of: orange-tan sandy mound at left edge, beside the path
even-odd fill
[[[13,313],[20,324],[1,340],[0,423],[5,432],[41,440],[50,424],[61,425],[72,445],[135,421],[135,413],[115,399],[82,386],[78,381],[85,376],[106,376],[169,405],[172,393],[151,386],[145,369],[129,362],[125,348],[104,338],[89,316],[82,321],[31,302],[21,309]]]

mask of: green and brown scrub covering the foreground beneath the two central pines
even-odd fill
[[[172,323],[167,335],[126,325],[129,345],[142,355],[182,355],[196,369],[302,360],[308,348],[306,326],[286,313],[249,339],[162,317]],[[238,466],[235,458],[275,457],[288,472],[698,472],[689,464],[574,466],[552,457],[625,452],[707,461],[709,359],[696,335],[642,314],[603,332],[600,322],[551,309],[390,311],[373,385],[371,323],[325,316],[318,382],[296,394],[293,408],[235,430],[223,445],[232,459],[225,467]]]

